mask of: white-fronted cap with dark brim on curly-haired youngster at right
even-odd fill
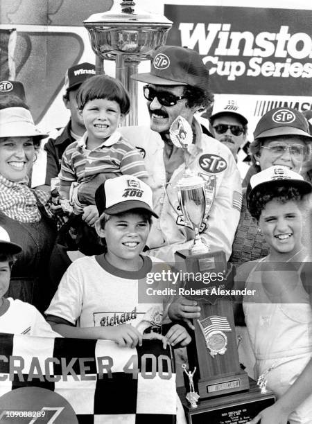
[[[293,186],[300,190],[300,193],[311,193],[312,186],[304,181],[300,174],[295,173],[286,166],[270,166],[260,173],[252,175],[250,178],[251,191],[248,193],[249,201],[256,191],[266,191],[270,186]]]

